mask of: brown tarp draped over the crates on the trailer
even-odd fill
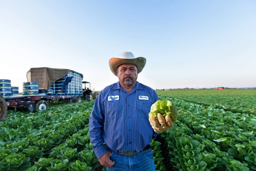
[[[61,79],[68,72],[74,72],[70,69],[57,69],[57,68],[31,68],[26,73],[28,82],[38,82],[38,88],[45,90],[50,89],[50,84],[54,81]]]

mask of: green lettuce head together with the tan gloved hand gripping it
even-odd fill
[[[149,112],[149,122],[155,132],[161,133],[173,126],[178,118],[178,111],[170,101],[156,101]]]

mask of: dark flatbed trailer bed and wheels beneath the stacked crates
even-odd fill
[[[28,107],[29,112],[36,110],[46,110],[52,99],[66,100],[70,104],[72,101],[81,102],[83,94],[46,94],[41,93],[38,95],[11,95],[9,97],[2,97],[0,95],[0,120],[6,117],[7,109]]]

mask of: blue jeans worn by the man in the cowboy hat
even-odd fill
[[[156,171],[151,149],[133,157],[113,152],[111,149],[108,150],[112,152],[110,159],[115,161],[115,164],[111,168],[107,168],[107,171]]]

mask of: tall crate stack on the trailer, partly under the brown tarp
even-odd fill
[[[73,76],[72,81],[68,83],[68,89],[67,93],[68,94],[83,94],[82,92],[82,76],[77,73],[69,72],[67,74],[68,77]],[[61,88],[63,85],[63,82],[65,81],[65,76],[62,77],[61,79],[58,79],[54,83],[50,85],[50,89],[53,91],[54,94],[60,93]],[[50,90],[47,90],[50,91]],[[64,91],[64,90],[63,90]]]

